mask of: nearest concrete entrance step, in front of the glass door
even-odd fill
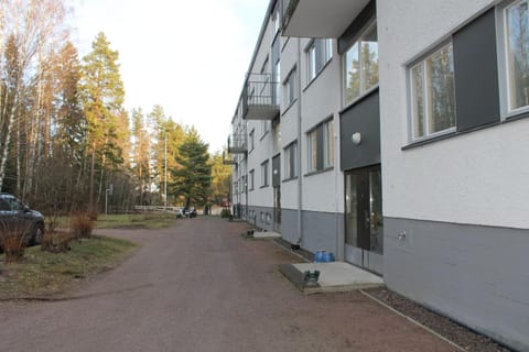
[[[304,294],[341,293],[384,285],[380,276],[344,262],[282,264],[279,270]],[[317,284],[305,282],[306,271],[320,271]]]

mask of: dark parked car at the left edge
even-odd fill
[[[0,194],[0,232],[6,231],[23,231],[26,244],[40,244],[44,235],[44,217],[17,197]]]

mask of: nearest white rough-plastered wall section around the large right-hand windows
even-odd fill
[[[493,3],[377,2],[385,217],[529,228],[528,120],[401,151],[409,129],[406,65]]]

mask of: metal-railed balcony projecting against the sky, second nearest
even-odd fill
[[[279,116],[281,85],[268,74],[250,74],[242,91],[242,117],[248,120],[273,120]]]

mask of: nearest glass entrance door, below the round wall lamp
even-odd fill
[[[384,218],[380,165],[345,174],[347,262],[382,274]]]

